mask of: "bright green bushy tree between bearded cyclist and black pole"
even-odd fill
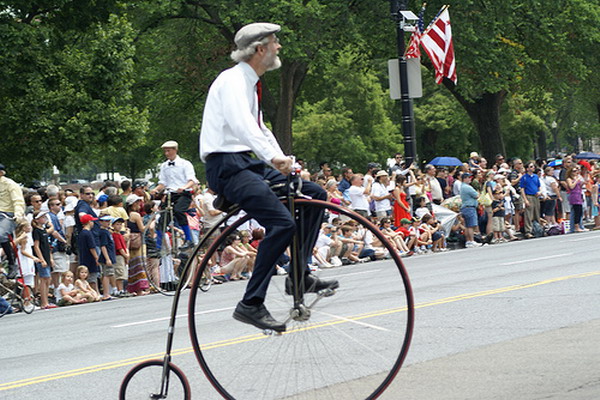
[[[368,162],[384,162],[401,148],[402,138],[389,117],[393,103],[367,54],[344,49],[318,81],[325,85],[321,93],[328,95],[302,104],[294,121],[299,157],[335,160],[361,171]]]

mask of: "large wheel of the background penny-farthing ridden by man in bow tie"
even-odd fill
[[[164,212],[156,212],[152,215],[152,219],[156,219],[159,215]],[[159,218],[160,221],[160,218]],[[157,222],[158,224],[159,222]],[[178,282],[183,279],[183,288],[188,288],[191,280],[192,273],[186,274],[182,277],[180,274],[184,271],[187,257],[189,259],[190,254],[193,253],[193,249],[186,251],[179,250],[179,235],[173,232],[170,225],[162,226],[163,246],[160,250],[160,258],[149,258],[147,254],[147,247],[142,246],[142,262],[144,265],[144,271],[148,283],[154,292],[163,294],[165,296],[173,296],[175,289],[177,288]],[[145,230],[142,233],[142,237],[146,240],[146,235],[150,232]],[[173,239],[174,238],[174,239]],[[179,261],[178,261],[179,260]],[[179,262],[176,267],[175,264]]]

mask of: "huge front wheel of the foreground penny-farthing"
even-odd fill
[[[340,288],[312,308],[308,321],[291,320],[282,335],[266,335],[232,318],[246,284],[231,282],[199,295],[207,260],[249,217],[232,222],[208,248],[192,283],[188,325],[196,358],[225,399],[375,399],[392,382],[406,358],[414,324],[408,274],[392,245],[367,219],[319,200],[295,200],[297,213],[332,211],[359,223],[382,242],[390,259],[324,269],[320,278]],[[292,297],[285,277],[273,276],[266,307],[285,321]],[[315,299],[305,295],[305,304]]]

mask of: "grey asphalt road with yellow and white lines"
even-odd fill
[[[382,398],[600,398],[599,240],[600,233],[590,232],[407,259],[415,331],[405,367]],[[360,278],[368,288],[386,280],[384,269],[385,262],[376,262],[325,275],[349,285]],[[207,327],[227,326],[236,338],[246,332],[230,317],[242,289],[242,282],[211,289]],[[336,304],[344,304],[343,295]],[[188,376],[194,398],[218,398],[191,351],[184,297],[173,361]],[[153,295],[2,318],[0,399],[116,398],[134,364],[162,355],[169,308],[170,298]],[[364,311],[363,305],[348,308]],[[374,321],[368,329],[385,330],[386,321]],[[214,343],[212,330],[205,334]],[[241,346],[227,346],[218,360],[224,366],[239,361]],[[360,375],[362,366],[347,368],[344,373]],[[367,387],[377,377],[356,376],[354,383]],[[335,398],[335,388],[316,394]],[[305,388],[296,389],[301,398]]]

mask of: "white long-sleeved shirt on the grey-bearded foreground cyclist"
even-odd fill
[[[253,151],[270,164],[273,157],[284,157],[273,133],[259,116],[256,83],[258,75],[245,62],[217,77],[208,91],[202,129],[200,158],[215,152]],[[260,118],[260,126],[258,120]]]

